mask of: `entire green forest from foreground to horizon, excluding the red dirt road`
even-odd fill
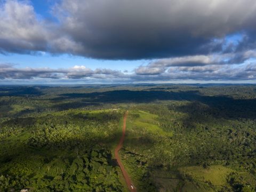
[[[256,191],[256,85],[0,86],[0,191]]]

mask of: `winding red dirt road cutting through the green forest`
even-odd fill
[[[125,179],[127,187],[129,188],[130,191],[134,192],[134,191],[137,191],[137,190],[136,190],[135,186],[133,185],[133,182],[132,182],[131,178],[129,177],[128,173],[125,171],[124,165],[122,164],[121,159],[120,159],[119,154],[118,154],[118,151],[123,147],[123,142],[124,142],[124,138],[125,138],[125,128],[126,128],[127,115],[128,115],[128,111],[126,111],[126,113],[124,114],[123,134],[122,134],[122,137],[121,137],[121,139],[118,143],[118,146],[115,148],[115,158],[116,158],[116,161],[117,161],[118,165],[120,166],[120,169],[121,169],[121,171],[124,175],[124,179]]]

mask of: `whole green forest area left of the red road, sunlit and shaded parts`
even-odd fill
[[[122,191],[113,157],[105,149],[118,139],[122,114],[83,112],[38,116],[31,126],[21,119],[4,122],[0,189]]]

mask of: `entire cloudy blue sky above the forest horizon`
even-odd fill
[[[255,0],[0,0],[0,84],[256,83]]]

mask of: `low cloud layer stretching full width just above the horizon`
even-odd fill
[[[86,68],[85,66],[74,66],[71,68],[15,68],[13,65],[0,65],[0,82],[6,79],[83,79],[90,82],[93,79],[102,83],[109,82],[168,82],[173,80],[189,81],[241,81],[256,80],[255,62],[243,65],[204,65],[204,66],[182,66],[169,68],[139,67],[134,73],[127,73],[111,69]]]

